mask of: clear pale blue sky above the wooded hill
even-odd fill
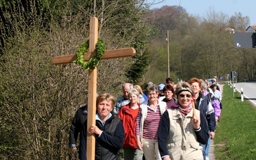
[[[163,1],[162,3],[159,3]],[[161,6],[182,6],[191,15],[200,15],[205,17],[207,11],[214,10],[222,12],[229,17],[235,13],[242,13],[242,16],[250,18],[250,25],[256,25],[256,0],[147,0],[148,3],[158,3],[151,6],[153,8],[161,8]]]

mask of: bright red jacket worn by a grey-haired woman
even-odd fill
[[[138,103],[138,106],[140,106],[140,103]],[[126,106],[123,106],[119,112],[118,117],[122,120],[124,125],[124,146],[123,148],[137,148],[137,140],[135,135],[135,129],[136,129],[136,117],[132,118],[130,109],[130,103]],[[138,109],[139,112],[140,109]],[[137,113],[138,115],[138,113]]]

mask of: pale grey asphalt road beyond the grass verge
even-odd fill
[[[234,83],[234,86],[239,93],[241,93],[241,88],[243,88],[244,100],[248,99],[256,106],[256,82]]]

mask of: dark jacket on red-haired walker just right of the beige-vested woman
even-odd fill
[[[214,115],[214,108],[211,102],[201,92],[199,93],[198,99],[195,102],[195,108],[204,115],[204,119],[207,121],[207,125],[210,132],[214,132],[216,129],[216,121]]]

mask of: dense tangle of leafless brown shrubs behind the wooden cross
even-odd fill
[[[23,2],[31,10],[22,12]],[[133,1],[49,3],[44,0],[38,6],[35,2],[39,1],[17,1],[15,10],[1,8],[8,26],[1,19],[0,157],[72,159],[75,157],[67,145],[68,130],[77,108],[86,104],[88,84],[84,79],[88,75],[75,64],[55,66],[52,57],[76,53],[87,40],[88,19],[93,15],[100,19],[99,36],[108,49],[131,47],[140,42],[138,51],[143,53],[148,38],[145,33],[148,30],[141,25],[145,8]],[[78,5],[82,2],[86,3]],[[63,10],[57,12],[59,4],[63,4]],[[52,17],[54,12],[58,16]],[[126,81],[125,70],[132,61],[132,58],[101,61],[97,92],[117,97]]]

